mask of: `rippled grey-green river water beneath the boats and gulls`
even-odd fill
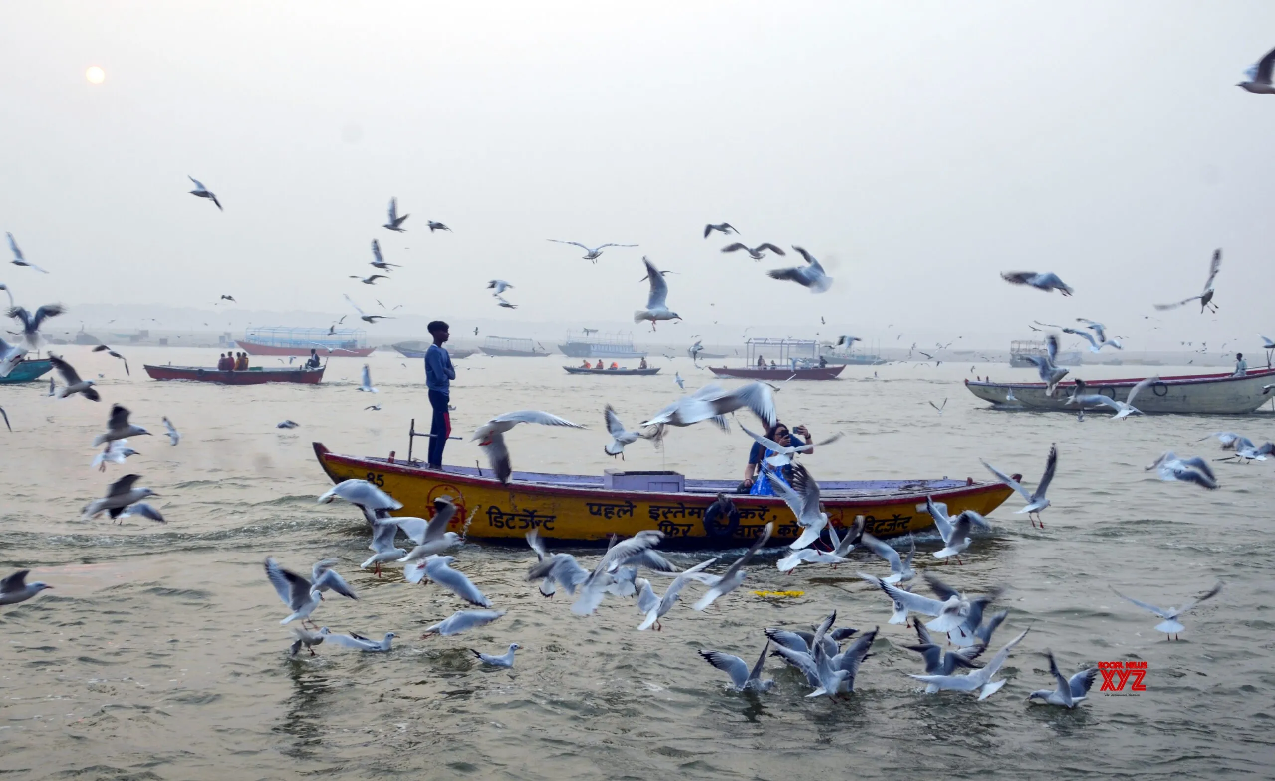
[[[1034,483],[1051,442],[1060,466],[1044,530],[1017,497],[992,515],[994,533],[975,540],[964,566],[918,541],[918,568],[941,572],[969,592],[1007,587],[1010,617],[993,650],[1030,627],[984,702],[956,693],[924,696],[907,673],[919,659],[901,646],[914,634],[887,624],[889,603],[854,576],[882,573],[856,553],[838,570],[774,568],[778,552],[750,567],[743,587],[706,613],[690,609],[697,585],[663,622],[638,632],[631,600],[609,598],[580,618],[523,578],[529,550],[467,544],[464,571],[509,613],[455,637],[421,640],[423,628],[463,603],[436,586],[416,587],[398,571],[361,572],[367,533],[348,505],[316,505],[329,487],[312,441],[337,452],[407,450],[411,418],[427,424],[419,361],[371,357],[380,394],[357,392],[357,359],[335,359],[321,386],[221,387],[156,382],[144,362],[212,366],[215,350],[138,348],[122,364],[87,348],[62,348],[82,375],[103,373],[101,404],[54,400],[47,385],[0,386],[14,432],[0,432],[0,568],[31,567],[55,585],[0,608],[0,773],[5,778],[774,778],[1039,777],[1216,778],[1269,776],[1272,749],[1270,671],[1271,464],[1218,464],[1221,488],[1165,484],[1142,466],[1163,450],[1223,455],[1213,431],[1271,438],[1270,414],[1153,417],[1112,422],[1074,415],[992,412],[963,378],[1028,380],[1005,366],[847,367],[838,382],[790,382],[776,396],[782,418],[816,438],[840,442],[805,459],[820,478],[987,478],[979,457]],[[278,366],[278,359],[255,363]],[[544,409],[589,431],[523,426],[506,436],[515,469],[598,473],[612,466],[602,408],[630,426],[680,391],[709,381],[688,359],[655,358],[649,378],[571,377],[575,363],[472,357],[456,361],[454,426],[468,433],[493,414]],[[973,371],[970,371],[973,368]],[[1074,372],[1077,369],[1074,369]],[[1137,376],[1137,367],[1085,367],[1086,378]],[[1192,369],[1162,367],[1164,375]],[[878,375],[878,377],[873,377]],[[937,414],[927,401],[942,404]],[[142,455],[107,474],[89,469],[92,437],[108,405],[162,432],[176,447],[135,437]],[[381,410],[363,408],[380,403]],[[275,428],[283,419],[300,428]],[[629,447],[630,469],[677,469],[691,476],[742,475],[750,441],[709,426],[674,431],[664,452]],[[446,461],[481,454],[450,442]],[[143,519],[111,525],[79,520],[83,505],[126,473],[161,494],[166,526]],[[1265,497],[1265,498],[1264,498]],[[593,553],[576,552],[586,566]],[[261,562],[309,572],[324,557],[360,592],[316,612],[333,631],[380,637],[390,654],[320,646],[289,661],[287,614]],[[673,554],[687,564],[694,554]],[[1183,623],[1179,642],[1154,631],[1155,617],[1116,598],[1181,604],[1218,578],[1225,590]],[[915,581],[924,591],[922,581]],[[662,585],[658,586],[662,589]],[[755,590],[802,591],[760,598]],[[839,702],[807,699],[798,675],[776,660],[770,693],[728,692],[697,648],[751,661],[766,626],[808,627],[829,610],[839,626],[881,627],[857,691]],[[504,651],[520,642],[513,670],[479,666],[470,647]],[[1099,692],[1074,711],[1025,702],[1052,688],[1039,651],[1053,648],[1066,671],[1099,661],[1146,661],[1145,691]],[[988,652],[988,656],[991,651]],[[984,657],[986,659],[986,657]],[[1099,683],[1102,679],[1099,679]]]

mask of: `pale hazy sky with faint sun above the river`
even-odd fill
[[[678,273],[687,322],[660,330],[1256,340],[1275,96],[1234,84],[1272,46],[1270,3],[10,3],[0,229],[52,274],[0,280],[28,305],[349,292],[464,319],[500,313],[499,276],[511,317],[623,320],[645,254]],[[391,195],[407,233],[379,227]],[[833,289],[722,255],[709,220],[805,246]],[[368,288],[347,276],[372,238],[403,268]],[[547,238],[641,246],[592,265]],[[1219,246],[1216,319],[1151,310]]]

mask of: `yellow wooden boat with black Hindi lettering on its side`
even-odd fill
[[[362,479],[403,502],[394,515],[428,517],[433,499],[448,496],[456,505],[451,530],[473,513],[467,535],[488,541],[524,544],[527,533],[567,544],[604,543],[612,534],[632,536],[643,529],[666,534],[660,548],[738,548],[756,539],[770,521],[778,544],[801,534],[782,499],[733,493],[734,480],[690,480],[673,471],[616,471],[566,475],[515,471],[501,484],[491,470],[474,466],[426,469],[422,461],[343,456],[314,443],[315,455],[333,483]],[[1019,475],[1014,475],[1020,479]],[[987,515],[1010,496],[1003,483],[964,480],[829,480],[820,482],[829,521],[848,526],[854,516],[866,529],[891,538],[933,526],[926,497],[956,515]],[[737,517],[706,513],[718,493],[727,493]]]

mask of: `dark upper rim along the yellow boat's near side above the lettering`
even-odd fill
[[[375,459],[372,456],[344,456],[328,450],[328,447],[323,445],[323,442],[314,442],[312,445],[320,466],[323,466],[324,473],[333,483],[338,483],[339,480],[337,479],[337,475],[334,475],[332,470],[328,468],[329,459],[337,462],[342,462],[347,466],[358,466],[361,469],[371,469],[372,471],[382,471],[382,473],[388,471],[403,476],[416,476],[416,478],[423,476],[423,478],[437,479],[441,475],[446,475],[446,479],[449,482],[455,482],[460,484],[486,487],[486,488],[501,488],[510,492],[525,491],[528,493],[538,493],[542,496],[562,496],[570,498],[606,496],[606,497],[618,497],[618,498],[643,498],[648,501],[668,499],[680,502],[685,502],[687,498],[692,498],[692,499],[700,499],[704,503],[711,503],[717,498],[717,493],[728,493],[728,492],[669,493],[669,492],[657,492],[657,491],[626,491],[626,489],[615,489],[603,487],[594,488],[594,487],[574,487],[574,485],[551,485],[546,483],[530,483],[530,482],[502,484],[493,476],[486,478],[486,476],[469,475],[464,473],[448,471],[446,465],[444,466],[444,471],[439,473],[437,470],[426,469],[423,466],[411,466],[407,462],[390,464],[385,460]],[[421,464],[421,461],[417,461],[417,464]],[[468,468],[456,468],[456,469],[468,469]],[[541,473],[532,473],[532,474],[541,474]],[[570,475],[570,476],[588,476],[588,475]],[[966,482],[964,483],[959,480],[952,480],[956,482],[958,484],[946,488],[936,488],[933,491],[909,491],[909,492],[880,493],[871,496],[827,497],[824,499],[824,505],[829,507],[848,510],[859,506],[876,506],[882,503],[898,503],[909,501],[918,501],[919,503],[919,501],[924,499],[926,497],[938,497],[938,498],[961,497],[966,494],[987,493],[997,489],[1005,489],[1012,493],[1012,489],[1005,483],[970,482],[970,480],[973,480],[973,478],[966,478]],[[849,482],[849,480],[833,480],[833,482]],[[907,484],[905,480],[899,480],[899,482]],[[748,502],[757,501],[764,506],[787,506],[782,498],[774,496],[764,497],[764,496],[734,494],[734,493],[728,493],[728,496],[731,496],[737,501],[748,501]]]

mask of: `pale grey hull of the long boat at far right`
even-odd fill
[[[1086,381],[1086,392],[1102,394],[1118,401],[1128,398],[1128,391],[1142,381],[1142,377],[1126,380]],[[1275,369],[1258,369],[1243,377],[1230,375],[1188,375],[1181,377],[1162,377],[1133,400],[1137,409],[1148,414],[1210,414],[1242,415],[1255,412],[1270,395],[1262,394],[1262,386],[1275,382]],[[997,409],[1019,409],[1031,412],[1077,413],[1080,408],[1068,406],[1067,396],[1075,390],[1075,382],[1062,382],[1053,396],[1046,395],[1043,382],[972,382],[965,387],[984,401],[991,401]],[[1014,394],[1014,400],[1009,394]],[[1090,412],[1107,409],[1086,408]]]

